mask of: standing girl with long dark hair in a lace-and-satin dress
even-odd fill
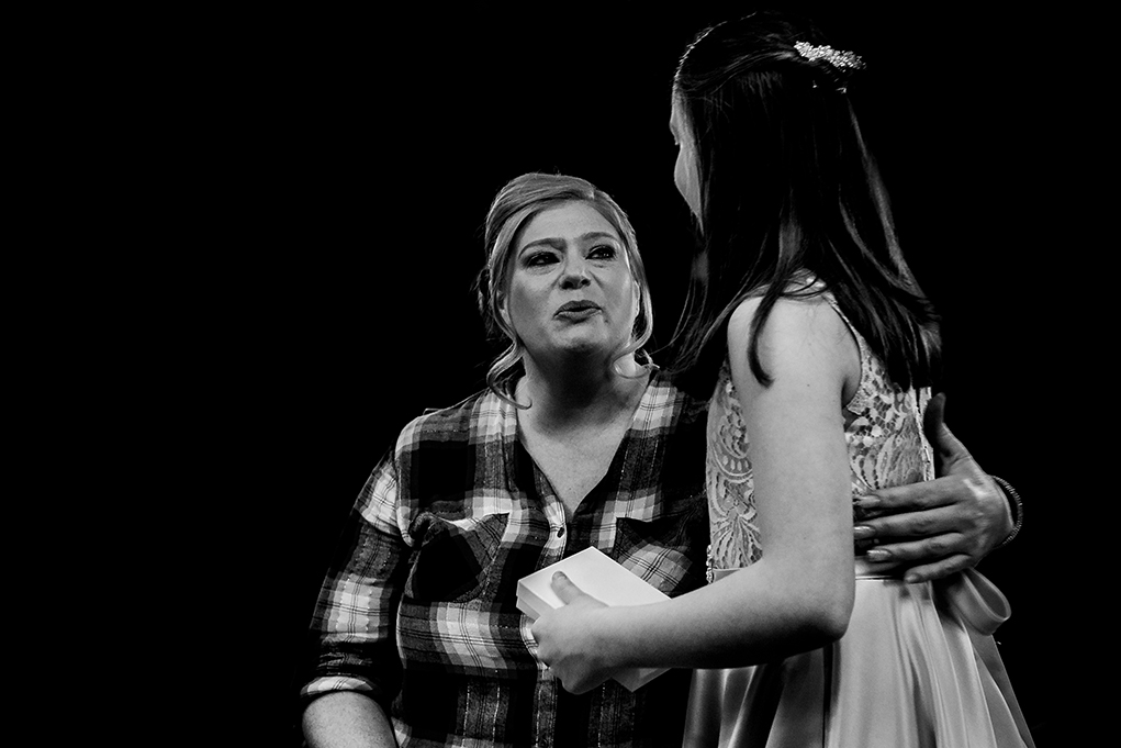
[[[991,636],[1000,591],[972,570],[911,583],[852,543],[861,497],[934,477],[939,350],[846,95],[862,64],[776,13],[683,56],[675,182],[704,286],[678,368],[712,394],[714,581],[609,608],[562,575],[568,604],[532,629],[575,692],[624,667],[710,668],[687,745],[1032,745]]]

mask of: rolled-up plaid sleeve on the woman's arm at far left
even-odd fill
[[[319,590],[305,703],[360,691],[388,707],[399,689],[396,618],[410,550],[399,524],[396,465],[390,455],[362,488]]]

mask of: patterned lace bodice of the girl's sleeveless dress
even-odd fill
[[[923,436],[929,391],[893,385],[868,343],[837,308],[860,349],[860,386],[843,407],[852,498],[874,489],[934,478],[934,453]],[[813,303],[813,302],[809,302]],[[706,488],[713,569],[748,566],[762,555],[748,437],[728,361],[708,405]],[[854,508],[854,519],[860,517]]]

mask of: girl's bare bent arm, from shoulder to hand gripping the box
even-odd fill
[[[748,302],[733,315],[729,344],[763,557],[656,606],[606,608],[582,595],[539,618],[538,654],[569,691],[594,687],[622,667],[773,659],[832,641],[847,626],[852,505],[840,405],[846,382],[859,377],[859,354],[824,302],[779,302],[760,341],[775,379],[763,387],[747,359],[753,311]]]

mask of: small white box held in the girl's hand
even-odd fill
[[[564,572],[573,584],[609,606],[641,606],[669,598],[634,573],[627,571],[597,548],[580,553],[538,570],[518,581],[518,610],[537,620],[541,612],[563,606],[553,591],[556,572]],[[628,691],[634,691],[665,673],[666,667],[633,667],[615,674]]]

